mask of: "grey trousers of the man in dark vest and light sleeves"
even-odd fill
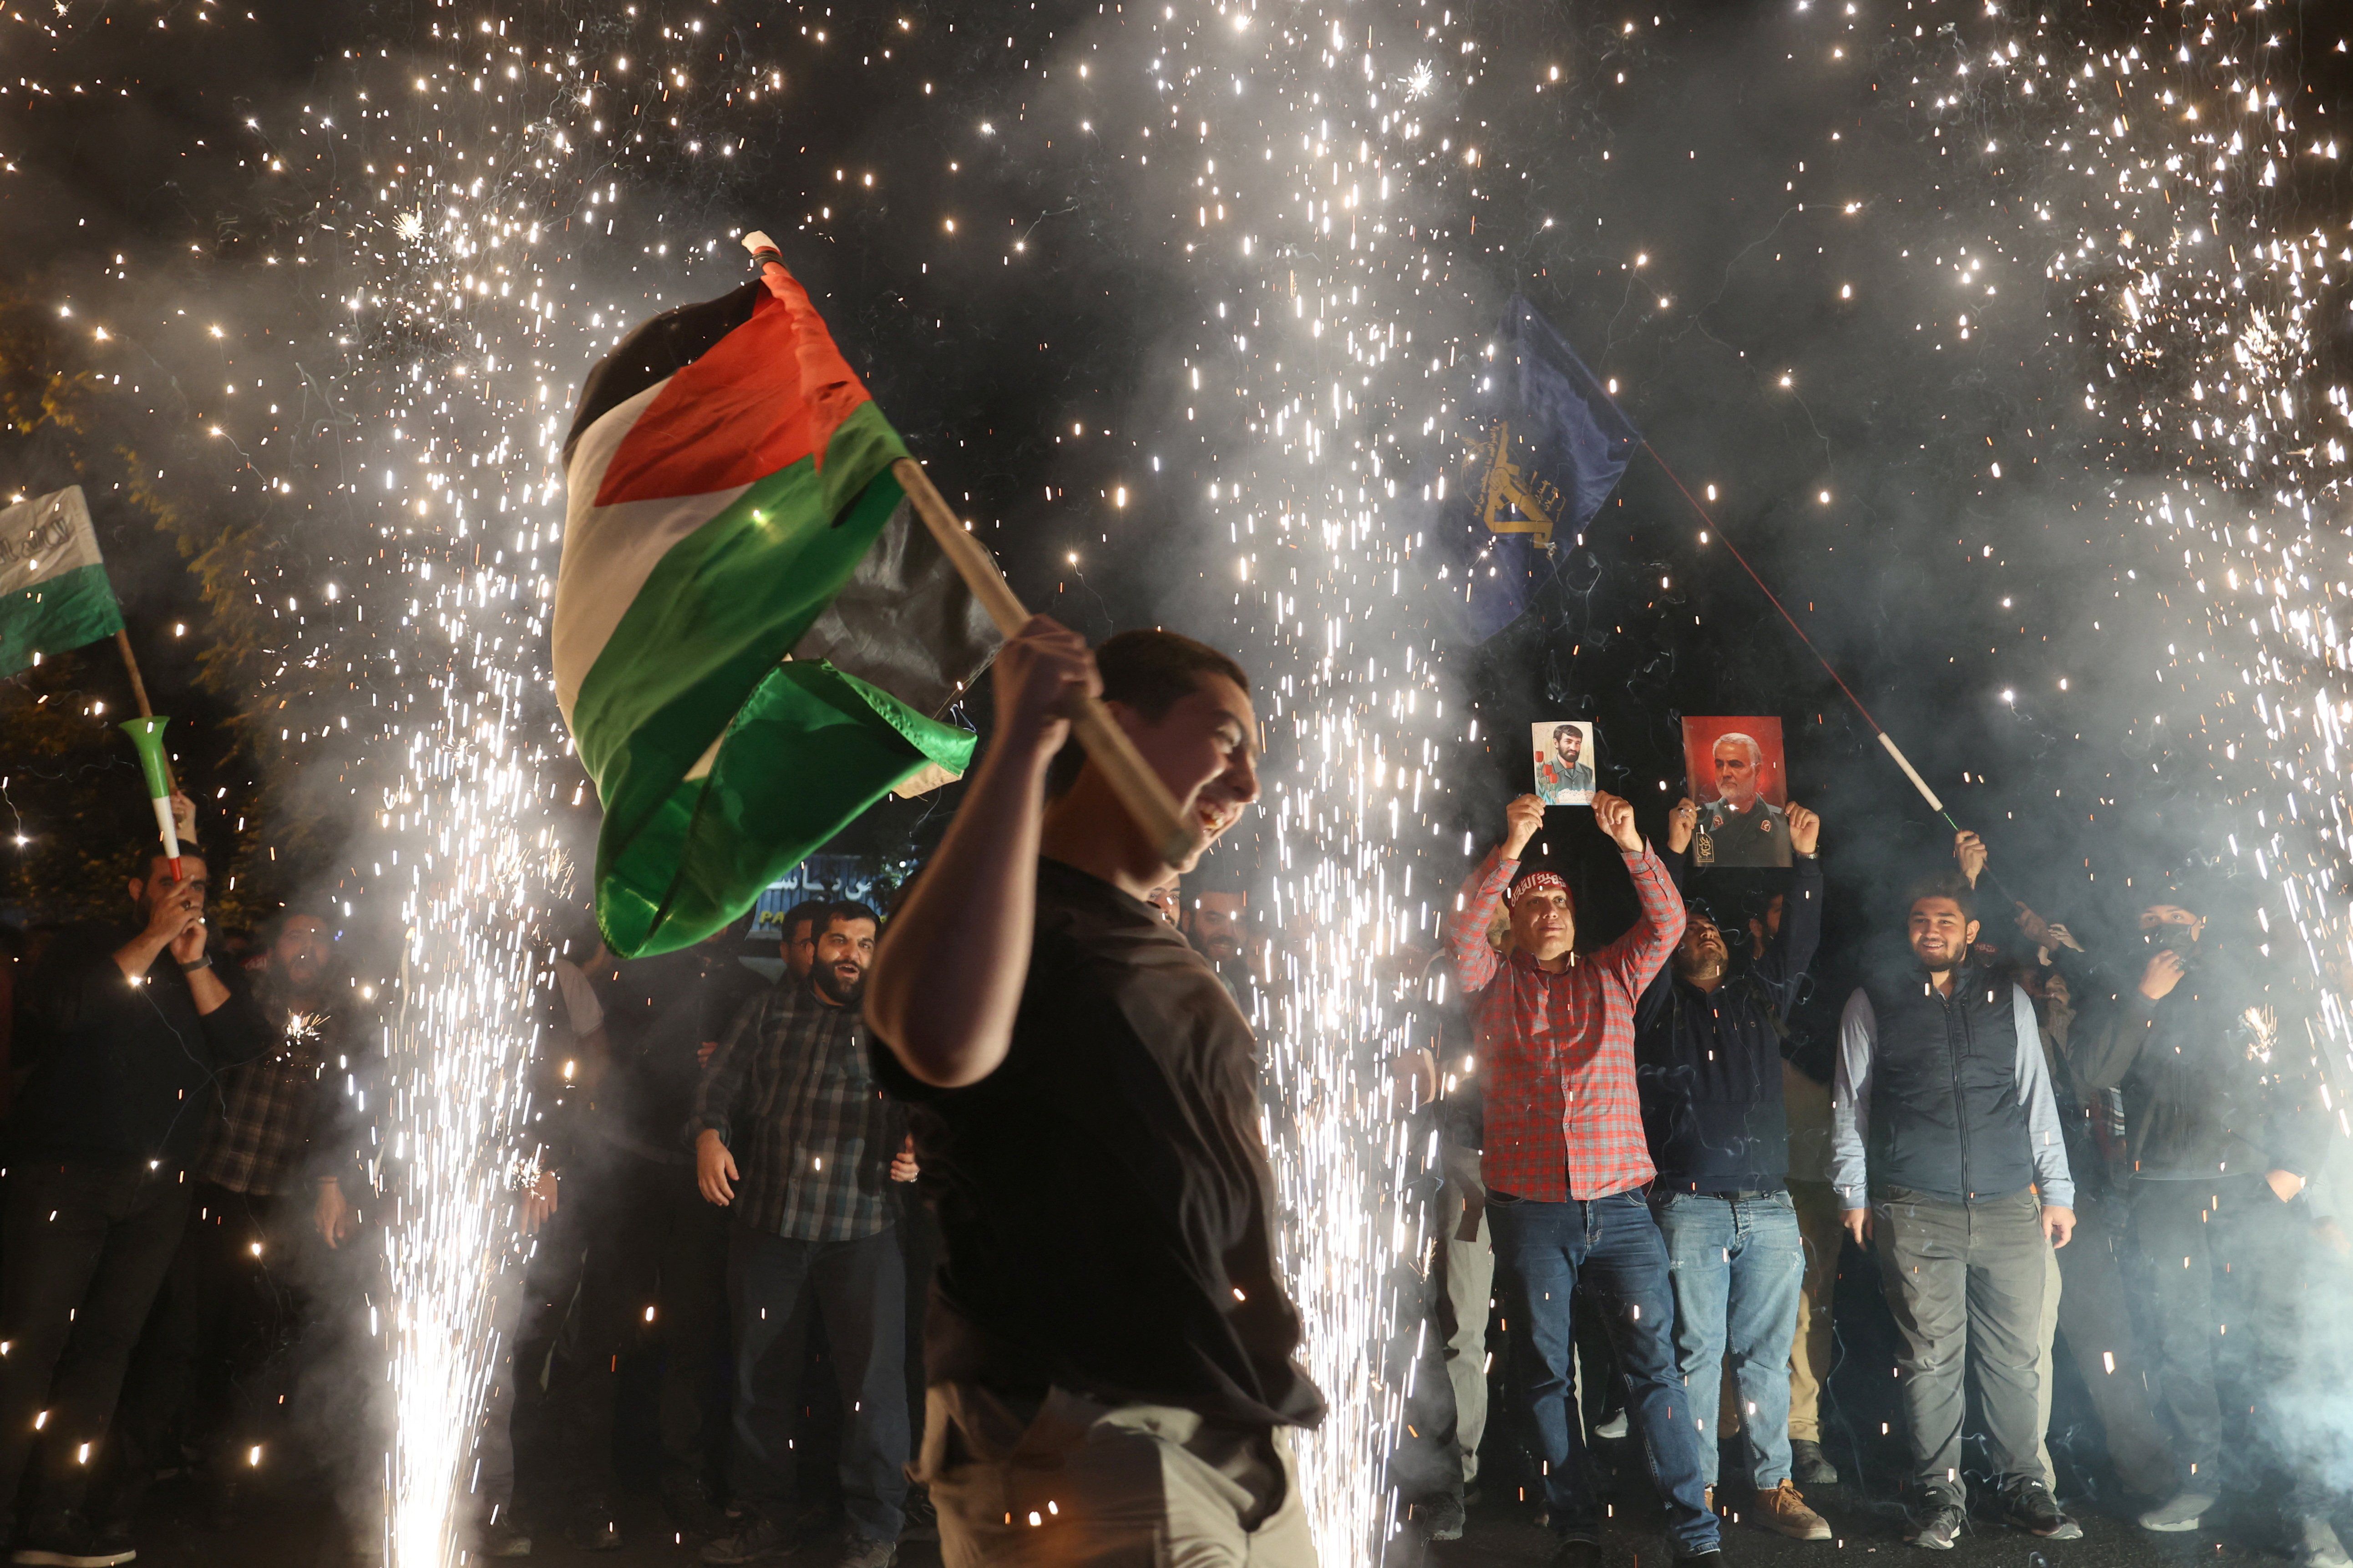
[[[2049,1241],[2033,1190],[1962,1204],[1889,1187],[1871,1199],[1871,1225],[1887,1309],[1904,1335],[1897,1368],[1913,1488],[1932,1502],[1967,1505],[1960,1427],[1972,1363],[1995,1481],[2042,1481],[2035,1363]]]

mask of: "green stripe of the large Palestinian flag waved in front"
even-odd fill
[[[904,501],[904,454],[859,407],[824,475],[802,458],[675,543],[581,679],[572,731],[605,802],[598,919],[614,952],[711,936],[925,762],[969,762],[965,731],[831,665],[784,663]]]

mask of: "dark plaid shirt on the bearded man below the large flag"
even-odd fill
[[[899,1114],[866,1070],[859,1009],[791,976],[736,1013],[694,1095],[689,1131],[734,1154],[734,1218],[793,1241],[856,1241],[892,1222]]]

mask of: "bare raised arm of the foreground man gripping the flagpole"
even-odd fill
[[[1038,919],[1045,771],[1075,698],[1101,691],[1087,642],[1045,616],[995,665],[998,726],[939,853],[882,933],[866,1020],[899,1065],[936,1088],[1005,1060]]]

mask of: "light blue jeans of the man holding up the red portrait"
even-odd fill
[[[1741,1392],[1741,1439],[1758,1490],[1788,1481],[1788,1342],[1798,1333],[1805,1239],[1786,1192],[1652,1197],[1675,1288],[1675,1366],[1692,1389],[1699,1472],[1715,1486],[1718,1389],[1725,1352]]]

